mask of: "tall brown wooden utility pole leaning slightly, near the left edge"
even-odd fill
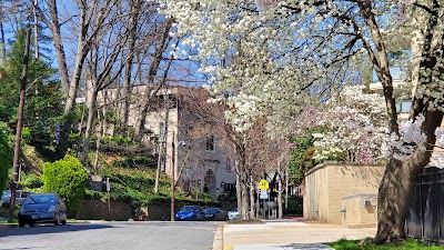
[[[10,221],[13,219],[17,183],[19,181],[20,140],[21,140],[21,129],[23,127],[23,111],[24,111],[24,97],[26,97],[27,81],[28,81],[28,62],[29,62],[30,40],[31,40],[31,31],[28,28],[27,29],[27,38],[26,38],[24,57],[23,57],[21,76],[20,76],[19,113],[18,113],[18,119],[17,119],[16,144],[14,144],[14,154],[13,154],[13,160],[12,160],[11,198],[9,200],[9,220]]]

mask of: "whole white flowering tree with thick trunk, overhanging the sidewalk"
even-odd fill
[[[425,142],[403,142],[413,147],[410,157],[390,158],[379,192],[375,242],[405,237],[404,221],[416,176],[430,162],[435,130],[443,118],[442,1],[160,1],[164,13],[176,21],[174,36],[191,33],[182,46],[196,48],[192,58],[201,62],[213,91],[235,90],[235,96],[223,97],[240,108],[228,113],[238,131],[246,130],[258,116],[268,116],[271,126],[283,128],[287,118],[295,118],[306,106],[307,96],[329,93],[335,83],[356,77],[351,73],[351,59],[365,53],[384,89],[389,131],[404,138],[397,123],[387,51],[407,48],[416,36],[422,42],[412,49],[416,62],[412,63],[416,67],[412,118],[424,117],[417,128]],[[424,142],[424,147],[415,142]]]

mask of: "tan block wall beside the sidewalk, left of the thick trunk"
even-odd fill
[[[376,194],[384,168],[385,166],[336,162],[316,166],[304,178],[304,219],[333,224],[372,222],[374,210],[367,211],[369,213],[365,214],[360,206],[352,206],[353,202],[359,204],[359,200],[349,202],[344,198],[356,194]],[[345,212],[343,211],[344,206],[347,206]],[[350,219],[352,214],[357,213],[361,219]]]

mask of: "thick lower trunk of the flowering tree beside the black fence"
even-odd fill
[[[377,197],[377,232],[375,243],[400,241],[405,238],[404,223],[408,213],[412,193],[416,187],[417,177],[430,162],[435,143],[434,131],[440,127],[443,113],[428,111],[425,114],[423,130],[427,136],[426,152],[416,150],[405,161],[391,159],[386,166],[380,184]]]

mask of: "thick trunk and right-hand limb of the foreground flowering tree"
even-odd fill
[[[434,1],[434,9],[438,9],[440,1]],[[438,12],[431,12],[422,44],[421,60],[418,67],[417,84],[418,88],[436,91],[434,86],[443,79],[443,66],[440,61],[443,58],[443,34],[438,26]],[[417,52],[418,53],[418,52]],[[412,77],[415,79],[414,77]],[[436,88],[436,87],[435,87]],[[430,162],[433,152],[433,144],[436,141],[434,134],[437,127],[441,126],[443,113],[440,111],[428,111],[430,103],[435,102],[435,97],[427,93],[415,97],[412,103],[411,116],[416,118],[420,113],[424,114],[425,121],[422,131],[427,137],[426,152],[416,151],[411,159],[406,161],[396,161],[392,159],[385,170],[383,180],[379,190],[379,223],[377,233],[374,239],[376,243],[386,241],[397,241],[405,237],[404,224],[408,213],[414,188],[417,177],[423,168]]]

